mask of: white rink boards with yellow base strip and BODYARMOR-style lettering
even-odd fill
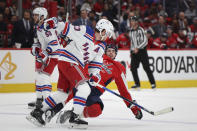
[[[149,50],[150,68],[158,88],[197,87],[197,50]],[[0,50],[0,92],[35,91],[35,61],[30,50]],[[120,50],[116,57],[126,63],[128,86],[133,85],[129,50]],[[142,65],[138,69],[142,88],[150,88]],[[57,68],[52,74],[56,90]],[[109,86],[115,89],[115,83]]]

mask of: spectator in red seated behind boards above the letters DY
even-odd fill
[[[178,35],[173,32],[172,26],[167,27],[167,34],[168,34],[168,48],[177,48],[177,38]]]

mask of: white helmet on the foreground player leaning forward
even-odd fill
[[[108,36],[109,38],[112,37],[112,34],[114,32],[114,26],[109,20],[106,20],[106,19],[100,19],[96,23],[96,29],[100,32],[100,35],[101,35],[101,32],[105,29],[106,30],[105,36]],[[102,38],[105,36],[102,36]]]

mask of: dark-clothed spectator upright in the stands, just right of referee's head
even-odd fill
[[[154,38],[160,37],[164,32],[166,32],[165,18],[164,16],[159,16],[159,23],[152,27],[154,31]]]

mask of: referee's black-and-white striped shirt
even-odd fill
[[[146,33],[140,26],[138,26],[136,30],[131,29],[129,36],[131,40],[131,51],[133,51],[135,48],[143,49],[148,44]]]

